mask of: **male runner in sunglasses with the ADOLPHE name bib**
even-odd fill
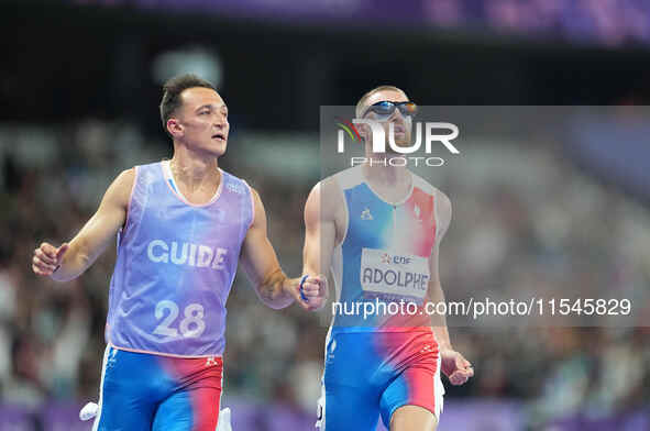
[[[383,86],[361,98],[356,118],[381,122],[386,140],[392,124],[395,143],[410,146],[416,111],[403,90]],[[326,342],[317,426],[370,431],[381,417],[392,431],[436,430],[444,393],[440,369],[454,385],[474,374],[453,350],[444,319],[432,324],[423,312],[444,299],[438,253],[451,203],[406,167],[392,166],[388,158],[400,154],[373,154],[367,124],[359,133],[366,163],[319,183],[305,208],[304,270],[331,268],[335,301],[348,310],[335,313]],[[411,303],[417,312],[355,312],[355,305],[378,302]]]

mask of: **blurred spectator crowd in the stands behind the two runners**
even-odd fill
[[[229,152],[238,151],[238,139],[231,139]],[[507,169],[517,163],[491,164],[497,147],[481,150],[484,168],[469,169],[474,176],[441,172],[437,186],[454,205],[441,251],[448,299],[489,291],[486,283],[511,291],[602,284],[636,301],[635,308],[650,310],[639,295],[650,286],[647,209],[597,185],[553,148],[510,155],[546,185],[526,181],[521,173],[517,178]],[[30,268],[32,250],[37,241],[70,239],[120,170],[170,155],[170,144],[146,142],[128,123],[0,129],[0,404],[37,410],[53,400],[97,398],[114,250],[68,284],[37,279]],[[312,184],[271,180],[261,169],[229,164],[228,155],[222,167],[258,189],[280,263],[297,275],[302,205]],[[533,189],[540,187],[555,196],[539,199]],[[265,308],[242,274],[228,309],[224,404],[273,405],[311,423],[327,311]],[[520,426],[511,429],[650,427],[648,328],[451,328],[451,333],[476,377],[460,388],[447,384],[449,415],[463,404],[515,400]],[[271,422],[255,429],[275,429]],[[486,413],[475,429],[507,429],[491,423]],[[443,415],[445,429],[453,428],[445,428]]]

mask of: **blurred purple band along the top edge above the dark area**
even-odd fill
[[[274,15],[276,20],[311,19],[326,21],[382,16],[392,10],[393,20],[422,25],[465,27],[467,31],[518,34],[524,37],[565,37],[576,43],[603,43],[609,46],[634,45],[650,41],[650,4],[643,0],[410,0],[395,8],[390,3],[363,0],[311,1],[309,5],[291,0],[69,0],[81,5],[169,8],[180,11],[203,10],[225,15]]]

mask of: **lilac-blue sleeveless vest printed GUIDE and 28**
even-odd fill
[[[223,170],[214,197],[192,205],[163,163],[135,167],[111,279],[107,342],[133,352],[218,356],[225,301],[253,221],[247,184]]]

